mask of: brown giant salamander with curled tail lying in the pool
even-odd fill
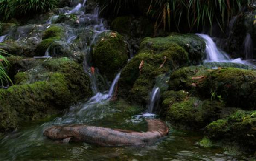
[[[94,127],[84,124],[52,126],[44,130],[44,136],[52,140],[84,141],[101,146],[125,146],[153,144],[159,138],[166,136],[169,128],[165,122],[158,119],[147,119],[148,131],[136,132],[131,130]]]

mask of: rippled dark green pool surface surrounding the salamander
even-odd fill
[[[105,103],[110,111],[115,111],[88,121],[94,126],[146,131],[146,123],[141,110],[126,107],[124,103]],[[104,107],[104,106],[102,106]],[[108,112],[108,111],[105,111]],[[155,117],[155,116],[149,116]],[[169,135],[153,145],[145,147],[100,147],[87,143],[62,143],[43,136],[43,130],[55,122],[38,121],[27,123],[15,133],[1,139],[1,160],[232,160],[239,159],[224,154],[219,147],[203,148],[197,145],[202,135],[189,131],[179,131],[169,124]]]

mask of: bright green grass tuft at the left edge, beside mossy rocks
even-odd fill
[[[0,45],[5,45],[5,44],[0,43]],[[9,76],[6,73],[6,69],[9,68],[10,64],[4,55],[11,56],[5,50],[0,48],[0,86],[3,86],[4,82],[12,83],[12,80],[9,78]]]

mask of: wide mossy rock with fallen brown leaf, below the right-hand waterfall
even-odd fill
[[[170,75],[169,90],[186,90],[202,99],[219,99],[229,107],[255,108],[255,71],[239,68],[179,68]]]

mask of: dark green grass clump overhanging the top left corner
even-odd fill
[[[9,20],[15,16],[50,11],[58,4],[58,0],[1,0],[0,14],[4,15],[1,20]]]

